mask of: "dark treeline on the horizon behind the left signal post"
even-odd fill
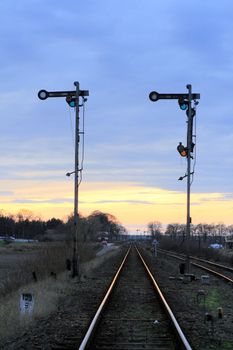
[[[31,211],[21,210],[16,215],[0,212],[0,236],[15,237],[22,239],[50,240],[55,235],[59,239],[69,240],[73,229],[73,215],[70,215],[66,222],[51,218],[42,220],[35,217]],[[89,216],[79,215],[78,220],[79,239],[92,241],[108,236],[113,239],[126,229],[118,222],[115,216],[94,211]]]

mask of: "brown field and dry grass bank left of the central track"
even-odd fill
[[[79,245],[80,261],[91,261],[99,249],[98,244]],[[0,342],[17,331],[26,330],[33,320],[55,311],[60,298],[74,288],[74,280],[66,269],[66,259],[72,257],[72,246],[64,242],[21,244],[0,248],[0,267],[8,259],[9,268],[0,281]],[[10,261],[12,258],[12,266]],[[92,266],[92,265],[91,265]],[[36,273],[37,281],[32,272]],[[51,272],[56,276],[50,276]],[[33,315],[20,313],[22,293],[33,294]]]

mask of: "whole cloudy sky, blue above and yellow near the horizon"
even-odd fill
[[[130,232],[185,223],[186,159],[176,148],[187,117],[176,100],[148,95],[192,84],[201,95],[192,222],[232,224],[232,18],[231,0],[1,0],[2,213],[72,213],[75,113],[37,94],[78,81],[90,94],[80,213],[110,213]]]

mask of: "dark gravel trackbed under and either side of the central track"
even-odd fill
[[[118,270],[118,277],[114,278],[116,285],[113,283],[108,297],[104,298],[106,306],[104,300],[101,302],[127,249],[127,246],[119,249],[82,282],[73,281],[71,291],[61,299],[51,317],[38,320],[36,326],[28,329],[20,338],[15,337],[1,344],[1,349],[191,349],[189,344],[181,345],[177,341],[177,332],[171,332],[173,322],[164,314],[164,306],[158,301],[161,295],[158,298],[153,289],[156,282],[147,280],[146,267],[134,249],[125,260],[125,265],[122,264]],[[192,269],[194,280],[185,276],[182,278],[178,262],[182,260],[177,259],[176,263],[174,254],[170,259],[159,253],[155,259],[144,245],[140,246],[140,251],[166,293],[193,349],[233,349],[232,285],[220,282],[218,276],[210,277],[207,284],[202,283],[201,275],[207,273],[202,273],[196,267]],[[183,259],[184,256],[176,258]],[[143,282],[143,278],[146,281]],[[97,309],[99,311],[95,314]],[[221,318],[219,309],[222,311]],[[90,322],[94,314],[94,320]],[[213,322],[207,320],[206,315],[212,316]],[[163,339],[166,341],[163,342]]]

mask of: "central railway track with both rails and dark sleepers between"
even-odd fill
[[[130,248],[79,350],[191,350],[137,248]]]

